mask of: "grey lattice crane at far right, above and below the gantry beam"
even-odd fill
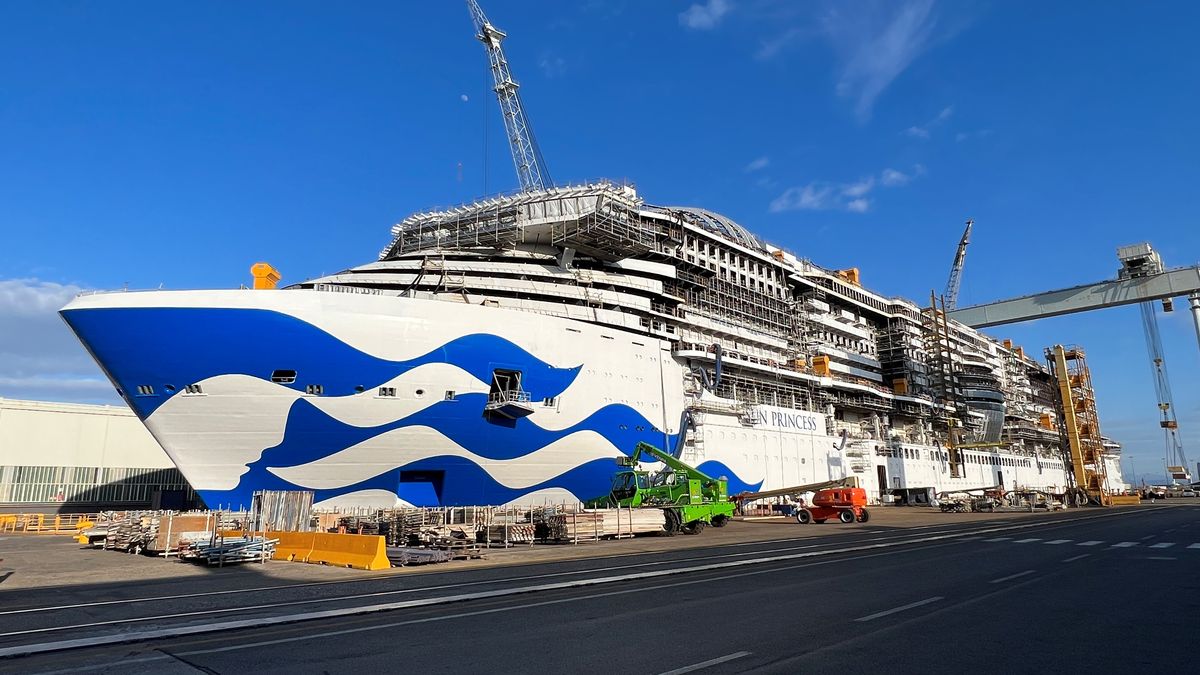
[[[1133,244],[1117,249],[1117,258],[1121,261],[1121,269],[1117,270],[1118,279],[1144,279],[1147,276],[1163,274],[1163,259],[1158,251],[1150,244]],[[1163,298],[1163,311],[1175,309],[1171,298]],[[1158,330],[1158,315],[1154,311],[1154,303],[1145,301],[1139,304],[1141,309],[1142,333],[1146,338],[1146,351],[1150,352],[1150,366],[1154,377],[1154,395],[1158,399],[1159,420],[1163,429],[1163,443],[1166,448],[1166,474],[1171,482],[1192,479],[1188,472],[1188,459],[1183,454],[1183,443],[1180,441],[1180,423],[1175,417],[1175,396],[1171,394],[1171,381],[1166,376],[1166,357],[1163,353],[1163,336]],[[1174,462],[1174,464],[1172,464]]]

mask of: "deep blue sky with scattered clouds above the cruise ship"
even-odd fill
[[[1194,2],[488,0],[559,183],[725,213],[886,294],[960,304],[1200,258]],[[236,287],[373,258],[410,211],[516,185],[461,2],[0,8],[0,395],[116,402],[54,317],[82,288]],[[1200,459],[1200,352],[1163,335]],[[1136,309],[1079,342],[1105,432],[1158,473]]]

